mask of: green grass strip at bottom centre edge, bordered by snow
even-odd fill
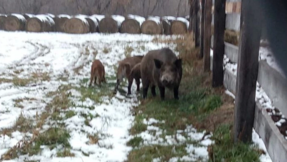
[[[139,149],[133,149],[127,162],[151,162],[155,158],[160,158],[160,161],[169,161],[172,157],[187,155],[185,147],[186,145],[143,146]]]

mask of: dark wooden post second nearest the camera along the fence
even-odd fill
[[[225,2],[226,0],[214,2],[212,87],[223,85]]]

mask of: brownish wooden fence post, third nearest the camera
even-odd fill
[[[212,0],[205,0],[204,7],[204,48],[203,48],[203,70],[210,71],[210,46],[211,46],[211,14]]]

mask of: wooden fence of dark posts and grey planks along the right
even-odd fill
[[[210,6],[212,2],[213,6]],[[274,162],[284,162],[287,159],[287,140],[279,131],[274,120],[259,102],[255,102],[256,82],[268,95],[272,104],[287,116],[287,79],[266,60],[259,60],[260,39],[266,38],[259,12],[252,1],[240,0],[202,0],[204,9],[211,9],[212,15],[204,11],[204,36],[211,38],[213,56],[210,62],[205,59],[205,66],[212,70],[212,86],[224,85],[235,94],[234,139],[235,142],[251,141],[252,128],[262,138],[266,149]],[[252,13],[252,14],[250,14]],[[211,22],[210,18],[212,17]],[[211,23],[211,25],[209,25]],[[251,25],[252,24],[252,25]],[[202,26],[201,26],[202,27]],[[256,28],[256,29],[254,29]],[[209,31],[213,31],[209,34]],[[226,42],[226,31],[238,32],[240,43]],[[226,35],[225,35],[226,36]],[[238,35],[239,37],[239,35]],[[202,48],[203,46],[203,48]],[[205,58],[209,58],[209,41],[204,40],[201,50]],[[223,69],[224,54],[230,62],[237,65],[237,74],[232,70]],[[206,56],[207,55],[207,56]]]

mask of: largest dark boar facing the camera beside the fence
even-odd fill
[[[143,98],[147,98],[148,87],[155,94],[155,86],[159,87],[160,98],[164,99],[165,87],[174,91],[178,98],[178,88],[182,79],[182,59],[178,59],[169,48],[149,51],[140,63],[140,74],[143,85]]]

